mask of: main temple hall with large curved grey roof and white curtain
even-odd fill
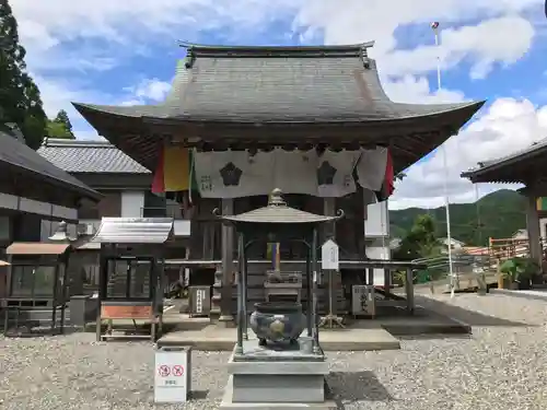
[[[385,200],[394,175],[456,134],[484,104],[392,102],[368,56],[372,46],[190,45],[163,103],[74,103],[101,136],[153,172],[152,192],[177,200],[191,225],[179,258],[193,271],[217,267],[212,301],[221,320],[235,313],[236,249],[233,229],[214,209],[257,209],[275,188],[300,210],[342,209],[322,242],[333,237],[340,247],[345,309],[346,285],[362,280],[345,263],[389,259]],[[298,243],[252,248],[248,258],[248,302],[264,300],[265,269],[305,270]]]

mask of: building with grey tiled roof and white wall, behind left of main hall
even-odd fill
[[[106,141],[47,139],[37,152],[102,196],[98,202],[80,207],[73,223],[69,224],[70,236],[78,238],[71,277],[80,281],[71,286],[71,293],[89,294],[97,289],[101,244],[89,239],[104,216],[174,218],[175,241],[170,244],[167,257],[172,260],[184,257],[190,234],[189,221],[184,220],[181,206],[170,199],[168,192],[151,192],[152,174],[149,169]],[[57,226],[58,221],[43,222],[42,238],[49,237]],[[171,281],[175,281],[179,269],[176,265],[170,267],[167,274]]]

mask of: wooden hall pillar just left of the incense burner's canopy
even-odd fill
[[[233,198],[222,199],[222,214],[232,215],[234,212]],[[234,230],[233,226],[222,225],[222,288],[220,300],[219,323],[232,326],[232,278],[234,272]]]

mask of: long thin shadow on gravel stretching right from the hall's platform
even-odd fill
[[[477,296],[477,297],[489,297],[488,295],[486,296]],[[478,312],[474,311],[468,311],[464,309],[459,306],[454,306],[447,303],[444,303],[442,301],[424,297],[424,296],[419,296],[416,295],[415,297],[416,304],[420,305],[427,309],[430,309],[437,314],[441,314],[444,316],[449,316],[452,319],[462,321],[466,325],[469,326],[481,326],[481,327],[489,327],[489,326],[502,326],[502,327],[531,327],[534,325],[531,324],[525,324],[522,321],[513,321],[513,320],[507,320],[503,318],[494,317],[494,316],[488,316],[484,315]]]

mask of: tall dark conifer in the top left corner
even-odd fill
[[[37,149],[46,134],[47,117],[38,87],[26,72],[25,55],[11,7],[0,0],[0,125],[18,125],[26,144]]]

